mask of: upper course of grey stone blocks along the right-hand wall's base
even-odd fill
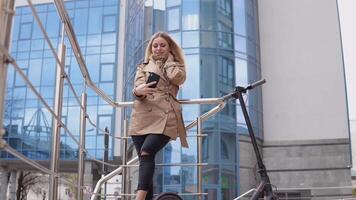
[[[289,141],[288,145],[263,147],[268,170],[347,169],[351,167],[350,146],[345,140]]]

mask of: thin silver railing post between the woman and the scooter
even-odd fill
[[[201,137],[202,132],[202,126],[201,126],[201,118],[200,116],[197,118],[197,147],[198,147],[198,170],[197,170],[197,175],[198,175],[198,200],[203,199],[202,195],[202,190],[203,190],[203,176],[202,176],[202,163],[203,163],[203,137]]]

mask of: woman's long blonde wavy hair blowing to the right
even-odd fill
[[[174,61],[185,65],[185,60],[184,60],[184,54],[182,48],[179,47],[179,45],[172,39],[172,37],[166,33],[166,32],[157,32],[154,35],[152,35],[150,41],[148,42],[148,45],[146,47],[146,52],[145,52],[145,59],[144,62],[148,62],[150,56],[152,55],[152,43],[153,40],[161,37],[165,39],[168,42],[169,48],[170,48],[170,53],[174,57]]]

